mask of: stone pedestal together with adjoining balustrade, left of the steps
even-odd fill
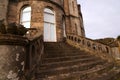
[[[26,35],[0,34],[0,80],[31,80],[44,53],[38,30]]]

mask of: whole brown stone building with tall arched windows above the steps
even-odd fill
[[[62,41],[66,34],[85,36],[77,0],[1,0],[0,19],[37,28],[45,42]]]

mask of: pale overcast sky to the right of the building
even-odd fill
[[[78,0],[86,37],[92,39],[120,35],[120,0]]]

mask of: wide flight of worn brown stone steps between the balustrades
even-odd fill
[[[44,43],[36,80],[117,80],[113,63],[76,49],[67,43]]]

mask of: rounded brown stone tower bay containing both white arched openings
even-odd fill
[[[62,0],[10,1],[8,10],[8,23],[17,22],[27,28],[40,29],[44,41],[62,41],[65,15]]]

